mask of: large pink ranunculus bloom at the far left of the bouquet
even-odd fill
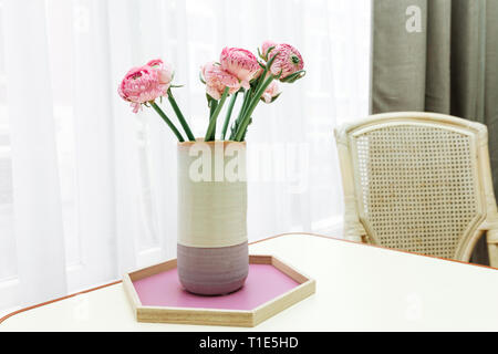
[[[141,104],[167,95],[168,85],[162,84],[157,70],[144,65],[129,70],[117,87],[120,96],[132,103],[137,113]]]

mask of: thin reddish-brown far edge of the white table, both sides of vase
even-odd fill
[[[448,259],[448,258],[442,258],[442,257],[436,257],[436,256],[429,256],[429,254],[415,253],[415,252],[411,252],[411,251],[405,251],[405,250],[400,250],[400,249],[394,249],[394,248],[386,248],[386,247],[382,247],[382,246],[377,246],[377,244],[362,243],[362,242],[346,240],[346,239],[342,239],[342,238],[338,238],[338,237],[325,236],[325,235],[320,235],[320,233],[312,233],[312,232],[286,232],[286,233],[279,233],[279,235],[267,237],[267,238],[261,239],[261,240],[257,240],[257,241],[250,242],[249,244],[256,244],[256,243],[269,241],[269,240],[272,240],[272,239],[276,239],[276,238],[279,238],[279,237],[283,237],[283,236],[298,236],[298,235],[300,235],[300,236],[320,237],[320,238],[330,239],[330,240],[336,240],[336,241],[355,243],[355,244],[361,244],[361,246],[366,246],[366,247],[380,248],[380,249],[384,249],[384,250],[388,250],[388,251],[402,252],[402,253],[414,254],[414,256],[419,256],[419,257],[439,259],[439,260],[443,260],[443,261],[456,262],[456,263],[460,263],[460,264],[467,264],[467,266],[474,266],[474,267],[480,267],[480,268],[498,270],[497,268],[492,268],[492,267],[489,267],[489,266],[470,263],[470,262],[459,261],[459,260],[455,260],[455,259]],[[103,289],[103,288],[112,287],[112,285],[118,284],[121,282],[123,282],[123,281],[122,280],[116,280],[116,281],[110,282],[107,284],[103,284],[103,285],[100,285],[100,287],[91,288],[91,289],[83,290],[83,291],[80,291],[80,292],[76,292],[76,293],[73,293],[73,294],[69,294],[69,295],[65,295],[65,296],[56,298],[56,299],[49,300],[49,301],[45,301],[45,302],[42,302],[42,303],[39,303],[39,304],[34,304],[34,305],[31,305],[31,306],[27,306],[27,308],[23,308],[23,309],[15,310],[15,311],[13,311],[11,313],[8,313],[3,317],[1,317],[0,319],[0,324],[2,322],[4,322],[6,320],[8,320],[8,319],[10,319],[10,317],[12,317],[12,316],[14,316],[14,315],[17,315],[19,313],[22,313],[22,312],[25,312],[25,311],[29,311],[29,310],[33,310],[33,309],[37,309],[37,308],[41,308],[41,306],[44,306],[44,305],[48,305],[48,304],[51,304],[51,303],[54,303],[54,302],[59,302],[59,301],[62,301],[62,300],[65,300],[65,299],[74,298],[74,296],[80,295],[80,294],[84,294],[84,293],[89,293],[89,292],[92,292],[92,291],[95,291],[95,290],[100,290],[100,289]]]

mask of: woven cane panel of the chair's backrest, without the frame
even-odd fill
[[[469,136],[423,125],[356,136],[363,211],[378,242],[453,258],[478,214]]]

